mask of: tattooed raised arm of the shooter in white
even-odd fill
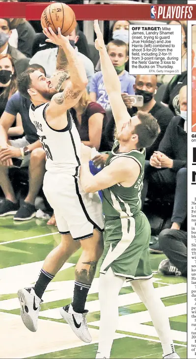
[[[58,113],[62,110],[70,109],[73,107],[80,96],[82,95],[82,91],[84,90],[88,80],[86,77],[86,72],[84,69],[83,62],[80,60],[77,53],[74,51],[73,47],[70,45],[69,36],[63,36],[60,32],[60,28],[58,28],[58,34],[56,35],[52,28],[47,30],[44,29],[45,35],[48,37],[48,42],[52,42],[58,46],[61,46],[68,62],[68,69],[70,75],[70,83],[64,89],[63,92],[57,93],[53,96],[50,105],[47,109],[47,112],[56,112]],[[47,41],[47,40],[46,40]],[[58,59],[57,59],[58,60]],[[57,62],[57,66],[60,68],[60,64]],[[66,74],[66,69],[64,71]],[[59,79],[59,83],[56,84],[56,88],[61,86],[62,82],[66,79],[66,75],[62,76]]]

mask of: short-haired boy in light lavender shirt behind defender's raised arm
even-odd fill
[[[121,91],[126,92],[129,95],[133,95],[135,93],[133,87],[135,77],[129,75],[129,73],[125,70],[125,64],[129,59],[128,45],[121,40],[112,40],[107,45],[107,51],[118,74],[121,83]],[[94,74],[91,80],[90,97],[92,101],[100,104],[105,110],[110,109],[108,94],[105,90],[101,71]]]

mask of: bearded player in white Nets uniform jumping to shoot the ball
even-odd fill
[[[48,41],[61,47],[57,68],[66,70],[67,59],[69,84],[63,92],[56,93],[66,79],[66,71],[60,71],[50,80],[40,71],[28,70],[20,75],[18,88],[32,101],[29,117],[46,151],[43,190],[54,209],[61,243],[45,259],[34,288],[21,289],[18,296],[24,324],[30,331],[36,331],[41,298],[47,285],[81,246],[83,252],[75,270],[73,303],[61,308],[60,313],[80,339],[90,342],[84,305],[103,252],[101,232],[104,223],[98,193],[91,198],[81,187],[81,139],[69,112],[80,99],[87,78],[83,63],[69,43],[69,36],[61,35],[60,28],[58,35],[51,28],[49,30],[45,29]],[[56,83],[55,87],[52,81]]]

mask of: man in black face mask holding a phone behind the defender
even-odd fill
[[[132,107],[131,97],[127,93],[122,93],[123,101],[127,106],[130,115],[134,116],[138,110],[149,112],[157,119],[161,129],[158,138],[155,140],[152,146],[146,148],[146,160],[149,160],[153,152],[158,149],[159,143],[164,137],[167,126],[171,118],[173,117],[173,113],[171,112],[171,110],[168,109],[168,107],[164,106],[160,102],[156,102],[154,99],[154,95],[157,90],[156,75],[137,75],[134,90],[136,95],[143,96],[143,106],[138,108]],[[105,130],[105,142],[108,142],[110,144],[110,147],[113,144],[114,128],[115,123],[112,116]]]

